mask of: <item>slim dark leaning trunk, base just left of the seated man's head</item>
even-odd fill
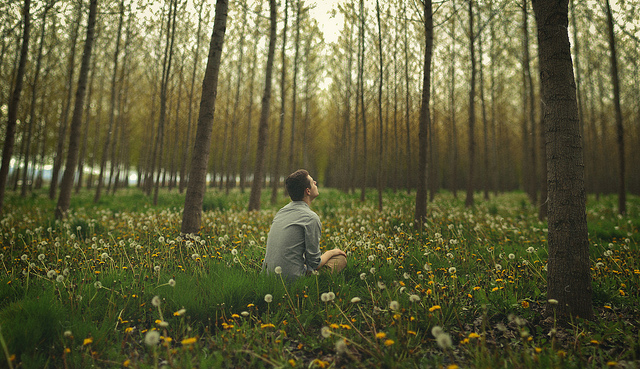
[[[269,133],[269,103],[271,101],[271,76],[273,75],[273,59],[276,51],[276,0],[269,0],[269,18],[271,27],[269,31],[269,51],[267,53],[267,67],[265,71],[264,94],[262,95],[262,110],[260,112],[260,125],[258,127],[258,147],[256,150],[256,164],[249,195],[249,210],[260,210],[260,195],[262,193],[262,181],[264,180],[264,154],[267,146],[267,134]]]

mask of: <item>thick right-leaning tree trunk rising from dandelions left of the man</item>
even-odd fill
[[[218,95],[218,76],[220,75],[220,59],[224,34],[227,29],[228,0],[216,1],[216,14],[213,22],[213,33],[209,45],[209,57],[202,81],[202,96],[200,98],[200,112],[196,139],[191,157],[189,183],[184,200],[182,213],[183,234],[200,232],[202,221],[202,202],[207,186],[207,168],[209,166],[209,152],[211,149],[211,132],[213,131],[213,117],[216,111]]]

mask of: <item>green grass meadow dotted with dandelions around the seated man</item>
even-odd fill
[[[321,245],[346,250],[349,265],[294,282],[260,272],[271,220],[287,203],[282,195],[270,205],[265,191],[262,210],[248,212],[248,192],[208,189],[193,240],[180,235],[184,194],[159,195],[153,206],[129,188],[94,204],[93,193],[81,191],[59,222],[46,192],[8,194],[0,220],[8,355],[0,366],[640,364],[635,196],[622,217],[615,197],[588,199],[596,318],[560,324],[544,314],[546,224],[522,193],[477,196],[471,209],[438,193],[418,232],[413,195],[388,191],[379,212],[373,190],[361,203],[359,191],[322,189],[313,203]],[[145,342],[151,331],[157,344]]]

